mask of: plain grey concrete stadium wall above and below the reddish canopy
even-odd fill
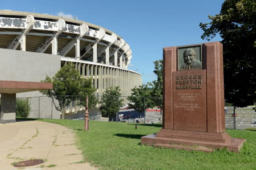
[[[40,82],[47,75],[54,76],[60,67],[59,55],[0,49],[0,80]],[[41,115],[41,118],[60,118],[60,112],[55,110],[54,105],[51,107],[51,99],[39,99],[38,96],[43,95],[39,91],[17,93],[17,98],[32,97],[29,117],[38,118]]]

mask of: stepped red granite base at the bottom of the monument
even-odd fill
[[[205,152],[227,148],[229,151],[238,153],[244,141],[245,139],[231,138],[226,132],[207,133],[170,129],[161,129],[159,133],[141,137],[141,144]]]

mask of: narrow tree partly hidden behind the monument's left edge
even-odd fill
[[[160,115],[163,110],[163,60],[154,61],[154,74],[157,75],[157,80],[152,81],[152,101],[160,107]]]

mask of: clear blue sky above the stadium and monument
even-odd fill
[[[218,14],[224,0],[4,0],[0,9],[77,17],[115,32],[130,45],[128,69],[151,82],[153,61],[163,58],[163,47],[207,42],[199,23]],[[215,37],[211,41],[220,41]]]

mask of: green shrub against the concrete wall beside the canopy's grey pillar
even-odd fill
[[[31,106],[29,98],[22,99],[17,98],[16,99],[16,116],[19,116],[21,118],[27,118],[30,114]]]

